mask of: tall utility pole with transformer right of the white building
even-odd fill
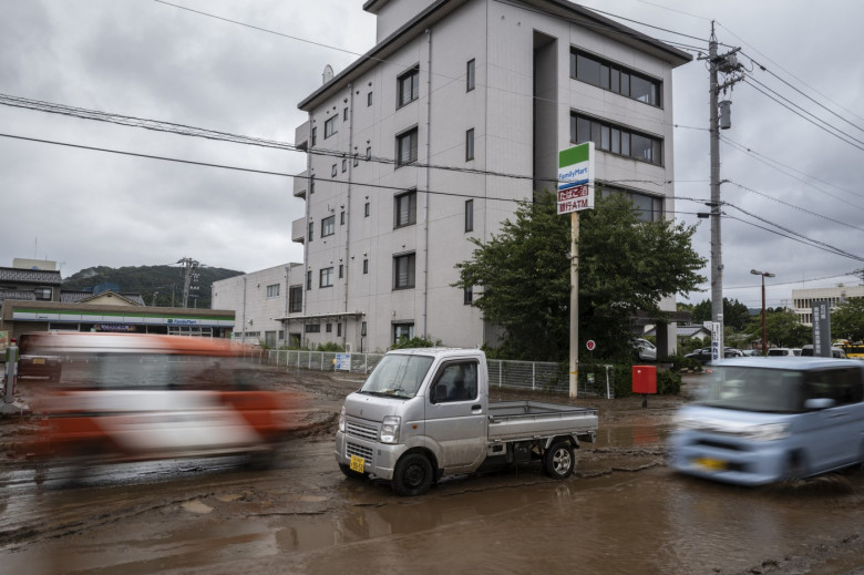
[[[711,208],[711,321],[719,324],[719,329],[713,330],[718,333],[718,340],[712,346],[712,358],[723,358],[723,254],[722,238],[720,233],[720,216],[722,215],[722,202],[720,199],[720,130],[731,127],[730,106],[731,102],[726,100],[719,102],[720,91],[726,91],[736,82],[743,80],[743,75],[731,76],[723,84],[720,84],[720,72],[724,74],[739,73],[742,70],[741,64],[734,57],[740,48],[730,50],[724,54],[717,53],[717,35],[714,35],[714,23],[711,22],[711,39],[708,42],[708,63],[710,68],[710,155],[711,155],[711,201],[708,206]],[[704,60],[700,57],[700,60]],[[722,119],[720,112],[722,109]],[[721,122],[722,120],[722,122]]]

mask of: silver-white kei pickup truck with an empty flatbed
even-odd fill
[[[594,442],[597,410],[542,401],[488,401],[486,356],[477,349],[388,352],[339,417],[336,460],[348,478],[426,493],[444,475],[539,460],[568,478],[574,449]]]

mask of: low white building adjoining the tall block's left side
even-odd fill
[[[301,264],[285,264],[214,281],[213,309],[234,310],[236,341],[299,346],[301,335],[286,333],[282,318],[302,309],[302,277]]]

